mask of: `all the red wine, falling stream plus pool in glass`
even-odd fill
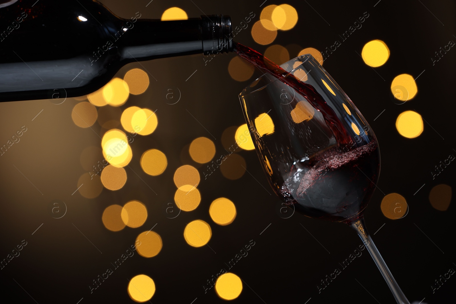
[[[375,137],[368,144],[353,145],[352,136],[333,108],[310,84],[299,81],[248,46],[234,43],[234,50],[260,71],[278,78],[306,98],[323,115],[337,142],[306,160],[295,161],[290,170],[282,172],[285,182],[273,187],[275,193],[306,216],[346,223],[360,218],[378,180],[379,151]],[[277,185],[276,182],[272,181]]]

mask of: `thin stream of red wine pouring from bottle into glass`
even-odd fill
[[[306,100],[314,108],[323,114],[326,125],[331,130],[338,145],[347,145],[354,142],[352,136],[348,134],[346,129],[343,127],[342,122],[337,117],[337,114],[326,103],[314,87],[305,82],[301,82],[293,74],[286,72],[283,68],[279,67],[274,62],[270,61],[268,58],[248,46],[234,42],[233,51],[246,61],[253,64],[255,67],[258,67],[261,72],[268,73],[279,78],[281,82],[289,85],[291,88],[295,89],[296,92],[301,94],[302,97],[306,98]]]

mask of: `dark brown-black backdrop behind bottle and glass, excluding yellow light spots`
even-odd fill
[[[265,5],[283,3],[266,1],[260,7],[263,1],[154,0],[147,7],[149,0],[102,2],[124,18],[140,11],[141,18],[159,19],[164,10],[178,6],[189,17],[203,15],[202,11],[207,15],[231,15],[236,25],[251,11],[257,21]],[[385,224],[373,239],[410,302],[417,304],[424,298],[421,303],[454,301],[452,290],[456,278],[453,276],[435,293],[430,287],[449,268],[456,268],[453,263],[454,206],[451,204],[447,211],[435,210],[430,205],[429,192],[439,184],[456,186],[453,178],[456,165],[447,166],[434,180],[430,174],[440,160],[456,153],[451,127],[456,109],[456,50],[451,48],[434,66],[430,59],[448,41],[456,41],[455,2],[289,0],[285,3],[295,7],[299,21],[292,30],[279,31],[273,44],[296,44],[321,51],[340,40],[338,34],[368,12],[363,27],[342,42],[324,62],[325,69],[375,131],[382,156],[378,188],[385,194],[397,192],[408,202],[408,215],[390,220],[380,210],[383,193],[375,191],[365,212],[367,227],[373,234]],[[391,52],[388,62],[375,71],[357,54],[366,42],[374,39],[385,41]],[[235,41],[259,52],[267,47],[253,41],[250,28],[241,31]],[[297,56],[296,50],[291,50],[296,46],[289,47],[290,57]],[[0,157],[0,258],[6,258],[22,240],[27,242],[20,256],[0,270],[2,297],[9,298],[2,300],[3,303],[35,303],[35,300],[40,304],[76,304],[81,298],[81,304],[133,303],[126,291],[127,279],[140,273],[155,281],[156,292],[151,303],[221,303],[224,300],[218,298],[214,289],[205,294],[202,286],[212,275],[217,275],[220,268],[226,268],[224,263],[234,258],[250,240],[255,245],[248,256],[229,270],[244,280],[243,292],[233,303],[306,303],[310,298],[309,304],[394,303],[366,250],[318,293],[316,285],[334,268],[340,268],[338,263],[348,258],[361,241],[350,227],[341,223],[299,214],[281,218],[276,211],[279,200],[267,184],[253,150],[239,152],[249,172],[238,180],[224,178],[220,170],[204,180],[200,167],[200,206],[174,219],[166,217],[164,206],[173,201],[176,190],[172,180],[174,171],[184,164],[195,165],[187,160],[186,151],[182,153],[182,149],[193,139],[206,136],[216,144],[218,155],[223,151],[220,140],[223,131],[245,123],[237,95],[257,74],[246,82],[233,80],[228,74],[228,62],[234,56],[218,55],[206,66],[202,55],[142,62],[157,81],[150,77],[148,90],[138,96],[130,95],[122,108],[136,105],[157,109],[158,128],[132,144],[134,156],[130,166],[144,182],[126,169],[128,180],[123,189],[104,189],[95,199],[83,198],[78,192],[71,195],[84,173],[79,164],[82,150],[99,146],[99,138],[91,129],[81,129],[71,119],[72,108],[79,101],[69,98],[58,106],[48,100],[0,103],[1,144],[22,125],[28,128],[21,141]],[[142,68],[139,63],[132,63],[119,71],[119,77],[133,67]],[[197,72],[186,82],[195,70]],[[392,99],[390,84],[402,73],[420,77],[416,80],[416,97],[399,105]],[[166,103],[168,88],[180,89],[179,103]],[[43,112],[31,121],[41,109]],[[399,113],[413,109],[425,119],[424,132],[415,139],[406,139],[399,135],[394,124]],[[97,124],[93,129],[98,134],[102,132]],[[166,171],[155,177],[146,175],[139,165],[142,152],[152,148],[163,151],[168,159]],[[216,225],[208,214],[210,203],[222,196],[232,200],[237,208],[237,217],[228,226]],[[49,203],[54,199],[67,204],[67,214],[61,219],[52,218],[48,212]],[[107,230],[101,221],[104,208],[124,205],[132,199],[147,206],[149,216],[145,224],[139,229]],[[184,227],[195,219],[211,225],[212,238],[208,245],[213,251],[208,246],[194,248],[185,242]],[[31,235],[41,223],[43,225]],[[92,280],[104,273],[110,263],[135,242],[140,232],[155,224],[154,231],[163,240],[161,252],[154,258],[138,254],[128,258],[90,294],[88,285]]]

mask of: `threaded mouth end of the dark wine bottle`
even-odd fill
[[[231,17],[228,15],[202,15],[202,48],[203,54],[233,52],[231,34]]]

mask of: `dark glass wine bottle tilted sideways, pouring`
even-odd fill
[[[82,96],[130,62],[233,51],[227,15],[141,16],[96,0],[0,0],[0,101]]]

